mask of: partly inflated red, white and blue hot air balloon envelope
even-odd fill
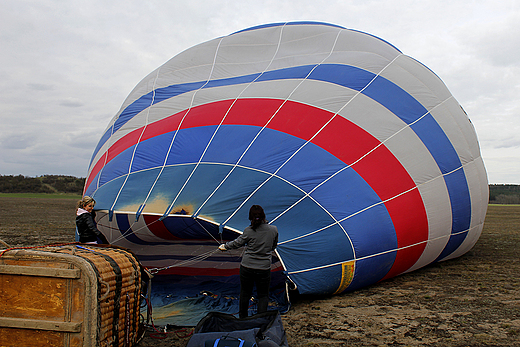
[[[112,243],[176,276],[236,276],[240,252],[215,250],[261,205],[279,230],[273,270],[327,294],[467,252],[488,183],[436,74],[373,35],[290,22],[145,77],[95,148],[85,194]]]

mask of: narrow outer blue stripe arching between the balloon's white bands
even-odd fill
[[[312,70],[312,68],[315,69]],[[269,81],[288,78],[305,78],[308,71],[312,71],[312,73],[307,76],[308,79],[335,83],[347,88],[358,90],[376,102],[382,104],[403,120],[403,122],[409,124],[411,129],[415,131],[428,148],[441,172],[445,174],[444,179],[446,181],[450,199],[457,197],[457,200],[461,201],[463,204],[462,208],[455,207],[452,204],[454,226],[452,233],[455,233],[455,230],[460,228],[464,230],[469,229],[471,206],[466,178],[463,174],[448,175],[451,171],[461,167],[460,160],[452,144],[449,142],[448,138],[433,117],[428,114],[428,111],[415,98],[393,82],[381,76],[377,76],[372,72],[349,65],[339,64],[297,66],[268,71],[263,74],[256,73],[210,81],[206,85],[204,85],[205,82],[196,82],[159,88],[156,91],[156,95],[160,95],[160,97],[157,97],[154,100],[154,104],[201,87],[212,88],[215,86],[250,83],[255,79],[259,81]],[[121,113],[121,116],[114,124],[114,129],[119,129],[133,116],[150,106],[150,98],[151,93],[144,95],[139,100],[129,105]],[[424,118],[421,119],[423,116]],[[102,141],[105,138],[107,138],[106,134],[102,137]],[[100,147],[101,145],[98,145],[98,148]],[[95,154],[96,153],[94,153],[94,156]]]

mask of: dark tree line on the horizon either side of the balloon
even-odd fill
[[[27,177],[23,175],[0,175],[0,193],[83,193],[84,177],[64,175],[43,175]],[[520,185],[490,184],[489,202],[492,204],[520,204]]]

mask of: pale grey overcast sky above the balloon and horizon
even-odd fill
[[[300,20],[373,34],[428,66],[473,122],[489,182],[520,184],[514,0],[2,0],[0,175],[85,177],[148,73],[213,38]]]

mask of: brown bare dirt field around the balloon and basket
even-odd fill
[[[0,197],[0,239],[71,242],[74,203]],[[460,258],[343,295],[293,295],[282,319],[291,347],[520,346],[520,206],[491,205],[482,236]],[[150,330],[138,347],[185,346],[190,331]]]

